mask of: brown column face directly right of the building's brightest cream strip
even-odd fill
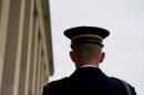
[[[23,22],[23,39],[22,39],[22,55],[21,55],[21,65],[20,65],[20,78],[19,78],[19,92],[18,95],[24,95],[28,92],[28,71],[30,65],[30,45],[31,45],[31,1],[25,0],[25,10],[24,10],[24,22]]]

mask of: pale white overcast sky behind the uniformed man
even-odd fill
[[[51,81],[74,72],[63,31],[80,25],[111,31],[104,40],[102,71],[128,82],[144,95],[144,0],[50,0],[54,55]]]

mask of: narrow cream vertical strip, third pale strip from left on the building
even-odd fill
[[[30,68],[31,68],[31,64],[33,64],[33,63],[31,63],[31,61],[33,60],[33,32],[35,32],[35,30],[33,30],[33,24],[35,25],[35,23],[33,23],[33,13],[34,13],[34,0],[28,0],[28,2],[27,3],[29,3],[29,6],[30,6],[30,8],[28,8],[28,10],[30,10],[29,11],[29,13],[30,13],[30,28],[29,28],[29,42],[28,42],[28,61],[27,61],[27,71],[25,71],[25,91],[24,91],[24,95],[28,95],[28,93],[29,93],[29,84],[30,84],[30,82],[29,82],[29,77],[30,77]]]

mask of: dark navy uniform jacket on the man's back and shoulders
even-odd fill
[[[128,85],[132,95],[134,88]],[[127,95],[120,80],[106,76],[97,67],[80,67],[70,76],[52,83],[43,88],[43,95]]]

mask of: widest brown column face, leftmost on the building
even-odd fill
[[[17,46],[18,46],[18,34],[20,27],[20,7],[21,0],[2,0],[2,15],[3,10],[9,13],[8,19],[7,14],[1,17],[1,22],[7,22],[7,41],[4,48],[4,57],[3,57],[3,73],[1,82],[1,95],[13,95],[14,86],[14,75],[16,75],[16,61],[17,61]],[[6,21],[2,21],[4,18]],[[2,28],[1,23],[1,28]]]

